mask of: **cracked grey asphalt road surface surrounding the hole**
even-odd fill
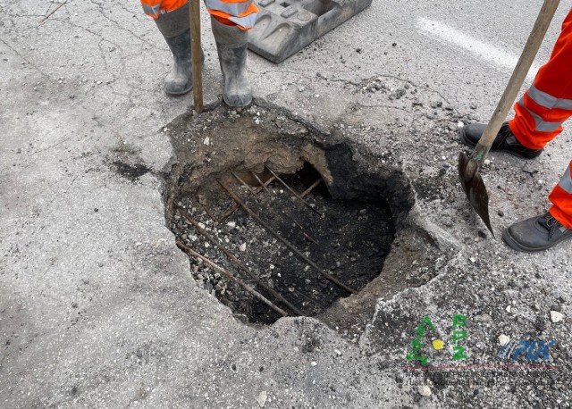
[[[192,96],[164,95],[171,58],[139,2],[1,2],[0,405],[569,407],[570,246],[520,255],[500,232],[546,208],[572,134],[529,163],[491,154],[497,238],[455,174],[458,124],[487,120],[540,4],[374,2],[280,65],[249,54],[257,104],[391,157],[416,189],[408,222],[422,239],[397,244],[422,258],[386,262],[402,287],[351,342],[311,318],[246,326],[192,279],[163,197],[176,161],[165,128]],[[202,23],[212,103],[222,79],[205,10]],[[124,158],[139,165],[129,178]],[[460,362],[454,314],[467,316]],[[405,358],[425,315],[446,345],[425,342],[431,371]],[[547,362],[513,362],[501,335],[557,342]]]

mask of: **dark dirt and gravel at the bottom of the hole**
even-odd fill
[[[218,179],[265,224],[242,207],[231,212],[237,203],[214,182],[181,197],[173,232],[184,246],[238,272],[284,313],[319,315],[379,275],[395,232],[391,209],[383,200],[334,199],[309,163],[294,175],[276,176],[299,196],[268,170],[237,170]],[[243,321],[270,324],[283,315],[204,260],[190,260],[195,280]]]

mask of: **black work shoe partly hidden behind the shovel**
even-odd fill
[[[463,127],[459,131],[459,136],[461,142],[465,145],[475,147],[479,139],[483,135],[486,125],[484,123],[471,123],[466,127]],[[538,155],[543,153],[543,149],[529,149],[526,146],[522,146],[515,138],[514,134],[509,128],[509,122],[504,122],[501,126],[501,130],[497,134],[497,138],[494,138],[491,146],[492,151],[505,151],[509,154],[514,154],[515,156],[534,159]]]

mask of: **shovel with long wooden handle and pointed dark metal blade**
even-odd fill
[[[470,157],[463,152],[458,155],[458,176],[461,180],[461,185],[475,212],[481,217],[493,236],[494,232],[489,219],[489,195],[486,192],[484,180],[479,174],[479,167],[483,164],[486,154],[489,153],[492,142],[499,133],[502,122],[507,117],[510,106],[515,101],[518,91],[526,79],[526,74],[543,42],[544,35],[548,26],[550,26],[554,13],[556,13],[558,4],[559,0],[544,0],[543,7],[534,22],[533,30],[526,41],[526,46],[518,59],[515,71],[513,71],[509,79],[509,84],[502,94],[501,101],[499,101],[496,110],[492,113],[491,121],[484,129],[483,136],[475,146],[475,150]]]

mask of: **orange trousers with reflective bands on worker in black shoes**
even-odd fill
[[[572,9],[552,50],[551,59],[538,71],[534,84],[515,104],[509,127],[522,145],[542,149],[562,131],[562,122],[572,115]],[[568,169],[552,189],[549,212],[572,229],[572,175]]]

